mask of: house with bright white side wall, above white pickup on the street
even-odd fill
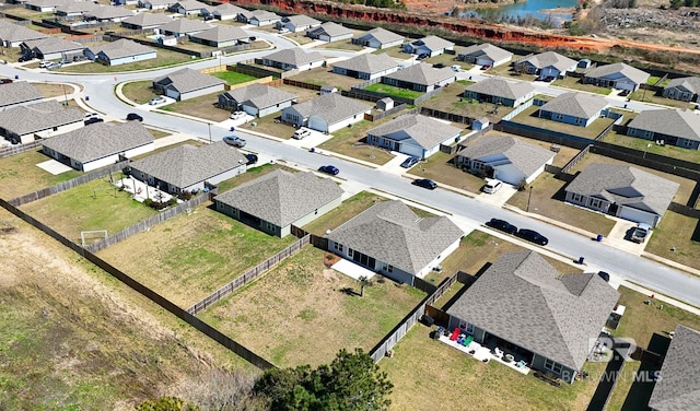
[[[320,132],[334,132],[364,119],[372,106],[340,93],[328,93],[282,110],[282,121],[308,127]]]

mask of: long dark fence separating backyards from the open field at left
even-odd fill
[[[48,236],[52,237],[54,239],[58,240],[62,245],[67,246],[68,248],[70,248],[74,253],[77,253],[79,256],[85,258],[88,261],[90,261],[93,265],[100,267],[105,272],[107,272],[108,274],[110,274],[114,278],[116,278],[117,280],[119,280],[121,283],[126,284],[127,286],[129,286],[130,289],[136,291],[137,293],[143,295],[144,297],[147,297],[151,302],[158,304],[160,307],[166,309],[168,313],[175,315],[176,317],[178,317],[183,321],[187,322],[189,326],[191,326],[195,329],[197,329],[198,331],[202,332],[205,336],[209,337],[213,341],[215,341],[215,342],[220,343],[221,345],[225,347],[226,349],[229,349],[233,353],[237,354],[238,356],[241,356],[245,361],[249,362],[250,364],[255,365],[256,367],[258,367],[260,369],[275,368],[275,365],[272,363],[270,363],[267,360],[262,359],[261,356],[259,356],[255,352],[248,350],[247,348],[245,348],[241,343],[236,342],[235,340],[231,339],[230,337],[223,334],[221,331],[219,331],[215,328],[211,327],[210,325],[208,325],[207,322],[202,321],[201,319],[199,319],[199,318],[195,317],[194,315],[187,313],[185,309],[178,307],[176,304],[174,304],[170,300],[167,300],[164,296],[158,294],[156,292],[154,292],[153,290],[149,289],[148,286],[141,284],[140,282],[138,282],[137,280],[132,279],[131,277],[129,277],[128,274],[122,272],[121,270],[115,268],[114,266],[112,266],[107,261],[105,261],[102,258],[95,256],[94,254],[90,253],[89,250],[84,249],[83,247],[79,246],[78,244],[75,244],[75,243],[71,242],[70,239],[66,238],[61,234],[59,234],[56,231],[54,231],[51,227],[49,227],[46,224],[44,224],[44,223],[39,222],[38,220],[34,219],[33,216],[31,216],[30,214],[27,214],[24,211],[20,210],[19,208],[12,206],[10,202],[8,202],[8,201],[5,201],[3,199],[0,199],[0,207],[2,207],[3,209],[8,210],[12,214],[16,215],[21,220],[27,222],[28,224],[33,225],[34,227],[40,230],[42,232],[44,232]]]

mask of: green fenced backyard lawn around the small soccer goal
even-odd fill
[[[115,173],[115,179],[117,174],[121,173]],[[108,177],[22,206],[22,210],[78,244],[81,231],[114,234],[158,213],[132,200],[129,192],[119,191]]]

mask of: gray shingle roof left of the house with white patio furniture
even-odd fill
[[[45,148],[81,163],[119,154],[153,142],[153,136],[139,121],[97,122],[44,140]]]

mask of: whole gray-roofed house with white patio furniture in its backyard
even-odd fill
[[[238,149],[218,141],[203,146],[178,145],[137,160],[129,167],[133,178],[178,195],[203,190],[205,181],[215,185],[245,173],[247,166]]]

